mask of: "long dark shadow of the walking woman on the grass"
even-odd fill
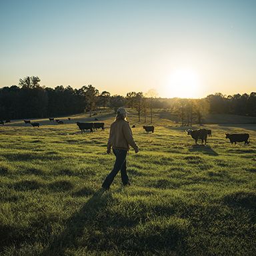
[[[40,255],[65,255],[65,249],[74,247],[77,239],[83,235],[85,227],[93,224],[97,213],[112,198],[111,193],[107,192],[104,195],[103,193],[104,189],[99,189],[77,213],[67,219],[67,224],[63,232],[57,237],[54,237]]]

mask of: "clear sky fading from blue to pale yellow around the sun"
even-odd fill
[[[256,91],[255,0],[0,0],[0,87]]]

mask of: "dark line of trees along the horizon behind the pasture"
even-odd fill
[[[151,122],[153,109],[168,109],[181,125],[203,123],[207,113],[256,116],[256,93],[250,95],[208,95],[203,99],[163,99],[154,90],[129,92],[125,97],[99,93],[93,85],[79,89],[71,86],[50,88],[40,85],[39,77],[19,79],[19,85],[0,89],[0,120],[56,117],[89,112],[98,107],[135,109],[138,121]]]

